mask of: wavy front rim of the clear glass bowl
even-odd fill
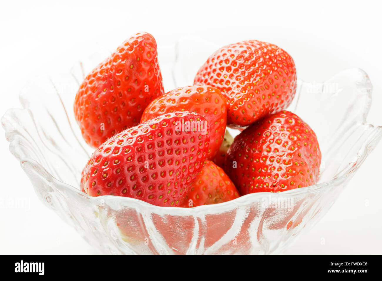
[[[361,71],[364,73],[364,76],[367,77],[367,73],[360,69],[355,68],[358,71]],[[350,68],[343,71],[348,70],[354,70],[354,68]],[[333,77],[337,76],[339,73],[342,73],[343,71],[338,72],[337,74],[333,75],[331,78],[329,78],[327,81],[330,81]],[[28,83],[28,82],[27,82]],[[26,84],[27,84],[26,83]],[[307,83],[306,81],[298,80],[298,84]],[[324,82],[325,83],[325,82]],[[59,94],[58,94],[59,95]],[[371,93],[370,93],[371,95]],[[20,94],[20,100],[21,100],[21,94]],[[23,102],[21,102],[23,104]],[[130,198],[130,197],[121,197],[121,196],[113,196],[113,195],[102,195],[98,197],[92,197],[87,195],[86,193],[82,192],[78,188],[74,187],[73,185],[66,184],[65,182],[62,182],[61,180],[54,177],[52,174],[50,174],[44,166],[42,166],[39,162],[37,162],[34,159],[28,158],[28,157],[21,157],[19,155],[16,155],[15,149],[17,147],[17,137],[11,137],[9,136],[9,132],[12,131],[10,128],[9,122],[8,122],[8,116],[10,116],[10,112],[13,112],[15,110],[22,110],[22,111],[28,111],[28,107],[26,107],[23,104],[23,108],[11,108],[6,111],[6,113],[1,118],[2,126],[5,130],[5,136],[7,140],[10,142],[9,144],[9,150],[10,152],[19,160],[21,167],[24,169],[26,174],[28,175],[27,170],[29,169],[29,165],[32,167],[32,171],[37,174],[40,177],[43,177],[45,181],[51,182],[52,184],[55,184],[55,186],[60,185],[62,188],[68,188],[69,190],[73,192],[77,192],[78,195],[81,195],[82,197],[87,198],[92,205],[100,205],[105,203],[106,205],[108,201],[119,201],[121,206],[140,206],[144,208],[144,210],[152,210],[155,213],[166,212],[168,214],[172,214],[174,212],[178,212],[178,214],[175,215],[195,215],[198,216],[201,213],[207,214],[207,213],[220,213],[219,209],[224,209],[225,211],[233,209],[233,207],[239,206],[239,205],[248,205],[248,203],[256,202],[259,200],[262,200],[265,197],[269,197],[270,195],[272,197],[293,197],[300,193],[309,193],[309,192],[316,192],[317,190],[322,190],[323,188],[332,188],[335,184],[346,182],[351,178],[351,176],[358,170],[358,168],[361,166],[361,164],[364,162],[364,160],[367,158],[369,153],[376,147],[380,139],[382,138],[382,126],[374,127],[373,125],[366,122],[367,114],[369,113],[369,108],[371,106],[371,103],[368,105],[368,108],[364,111],[363,114],[363,120],[360,123],[360,125],[366,125],[371,129],[371,132],[367,136],[366,141],[361,145],[361,149],[359,149],[358,153],[356,154],[357,161],[348,163],[341,171],[338,171],[337,174],[334,175],[334,177],[331,180],[321,182],[319,184],[310,185],[307,187],[301,187],[301,188],[294,188],[290,190],[285,190],[283,192],[255,192],[255,193],[249,193],[246,195],[242,195],[234,200],[230,200],[227,202],[219,203],[219,204],[212,204],[212,205],[202,205],[202,206],[196,206],[192,208],[182,208],[182,207],[171,207],[171,206],[156,206],[152,205],[150,203],[147,203],[146,201],[142,201],[136,198]],[[66,109],[65,109],[66,110]],[[70,127],[71,124],[70,124]],[[81,144],[80,144],[81,145]],[[28,165],[29,164],[29,165]],[[46,177],[44,177],[44,174],[46,174]],[[231,206],[231,207],[228,207]],[[182,214],[183,213],[183,214]]]

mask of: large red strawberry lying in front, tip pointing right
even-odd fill
[[[112,136],[85,167],[86,193],[179,206],[202,169],[210,138],[183,130],[182,120],[205,121],[192,112],[168,113]]]

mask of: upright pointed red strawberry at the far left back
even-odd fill
[[[86,76],[74,115],[85,141],[96,148],[138,125],[147,104],[163,93],[157,43],[151,34],[137,33]]]

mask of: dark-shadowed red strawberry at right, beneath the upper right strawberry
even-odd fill
[[[320,162],[316,134],[297,115],[282,111],[235,137],[225,169],[244,195],[316,184]]]

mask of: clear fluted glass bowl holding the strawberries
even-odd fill
[[[193,37],[159,46],[165,91],[192,84],[199,66],[218,48]],[[10,151],[40,200],[104,253],[280,252],[327,212],[382,137],[382,127],[366,122],[371,82],[363,70],[349,69],[325,83],[298,81],[288,108],[317,134],[322,164],[316,185],[194,208],[90,197],[79,182],[93,149],[81,137],[73,101],[84,75],[107,55],[93,55],[68,74],[29,81],[20,94],[23,108],[8,110],[1,120]]]

